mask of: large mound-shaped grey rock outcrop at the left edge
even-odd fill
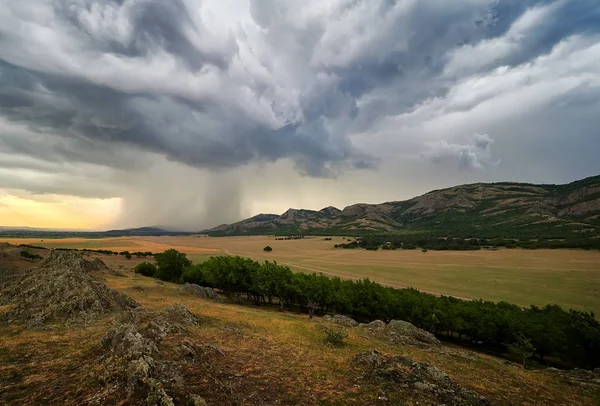
[[[11,281],[0,293],[0,305],[12,304],[7,316],[29,326],[60,320],[89,322],[106,313],[138,307],[129,296],[110,289],[90,272],[107,269],[70,251],[51,251],[39,267]]]

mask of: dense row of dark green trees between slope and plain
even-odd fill
[[[438,297],[369,279],[294,273],[276,262],[242,257],[218,256],[192,264],[172,249],[155,258],[156,265],[140,264],[136,272],[212,287],[238,300],[245,297],[282,309],[340,313],[362,322],[405,320],[441,338],[468,340],[497,353],[525,341],[540,361],[551,357],[572,366],[600,366],[600,323],[593,313],[557,305],[523,309],[507,302]]]

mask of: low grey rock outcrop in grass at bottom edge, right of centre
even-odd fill
[[[362,371],[362,379],[406,390],[411,401],[416,403],[489,405],[485,398],[467,390],[444,371],[425,362],[401,355],[386,356],[376,350],[359,353],[352,362]],[[395,399],[388,400],[393,402]]]

